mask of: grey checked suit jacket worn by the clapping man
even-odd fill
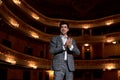
[[[73,53],[79,55],[80,51],[76,46],[75,40],[72,40],[73,44],[73,50],[68,51],[67,59],[68,59],[68,68],[70,71],[74,71],[74,58],[73,58]],[[52,70],[61,70],[61,65],[64,63],[64,53],[65,51],[63,50],[63,42],[60,36],[55,36],[51,39],[50,42],[50,53],[53,54],[53,60],[51,64],[51,69]]]

